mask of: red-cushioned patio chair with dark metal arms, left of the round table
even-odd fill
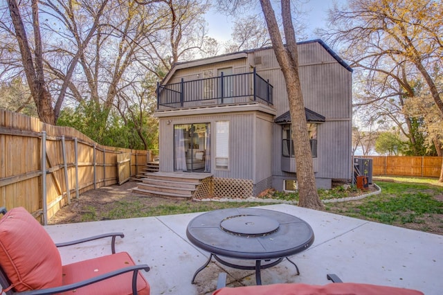
[[[109,233],[54,244],[44,227],[24,208],[0,208],[0,285],[10,294],[150,294],[150,285],[126,252],[116,253]],[[62,265],[57,247],[109,237],[112,254]]]

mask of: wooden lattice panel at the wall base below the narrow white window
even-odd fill
[[[214,197],[246,199],[253,197],[251,179],[214,178]]]

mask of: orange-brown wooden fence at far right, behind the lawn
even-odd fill
[[[358,156],[358,158],[372,159],[372,175],[440,177],[442,169],[442,157]]]

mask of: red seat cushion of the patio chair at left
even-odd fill
[[[106,274],[109,271],[114,271],[132,265],[135,265],[135,263],[131,256],[129,256],[129,254],[126,252],[75,262],[71,265],[64,265],[63,285],[76,283],[80,280],[93,278],[94,276]],[[132,272],[121,274],[120,276],[114,276],[114,278],[110,278],[108,280],[102,280],[101,282],[75,289],[75,293],[73,293],[73,291],[69,291],[62,294],[129,295],[132,294],[132,274]],[[150,294],[150,285],[141,274],[141,271],[138,271],[137,290],[138,294]]]

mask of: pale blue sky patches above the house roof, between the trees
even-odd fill
[[[305,19],[309,22],[306,24],[308,39],[318,39],[314,30],[316,30],[316,28],[327,28],[326,19],[329,8],[332,7],[334,2],[339,5],[344,5],[347,0],[305,0],[305,2],[302,10],[307,11]],[[257,4],[257,6],[260,8],[260,4]],[[208,21],[208,35],[210,37],[214,37],[219,42],[226,42],[230,39],[232,24],[228,17],[216,12],[213,8],[206,14],[206,21]]]

